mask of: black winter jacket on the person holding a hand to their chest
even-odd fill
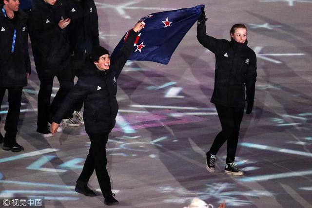
[[[67,28],[59,27],[59,20],[65,14],[62,0],[51,6],[44,0],[34,0],[29,19],[29,35],[36,69],[42,73],[61,70],[63,62],[69,60]]]

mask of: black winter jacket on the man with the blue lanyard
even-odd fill
[[[27,16],[19,10],[14,19],[8,19],[0,5],[0,87],[27,86],[26,72],[30,74],[28,54]],[[16,29],[14,52],[12,43]]]

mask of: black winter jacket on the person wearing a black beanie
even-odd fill
[[[111,59],[110,69],[100,71],[89,61],[84,73],[71,90],[53,119],[60,123],[63,115],[72,110],[74,103],[84,100],[83,120],[87,133],[111,132],[116,123],[118,103],[116,99],[117,79],[128,57],[138,33],[131,31],[118,56]]]

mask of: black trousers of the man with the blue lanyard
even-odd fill
[[[16,141],[16,134],[18,132],[18,122],[20,118],[20,100],[23,87],[0,87],[0,107],[5,94],[8,90],[9,110],[5,119],[5,144],[14,144]]]

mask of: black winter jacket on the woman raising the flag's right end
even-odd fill
[[[238,43],[210,37],[206,35],[204,19],[198,20],[197,39],[215,54],[215,88],[211,102],[229,107],[244,107],[245,100],[254,104],[256,56],[247,46],[248,41]]]

